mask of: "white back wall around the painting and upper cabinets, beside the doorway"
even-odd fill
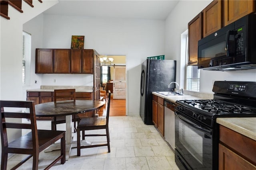
[[[128,114],[139,115],[140,64],[146,57],[164,54],[165,21],[44,15],[43,23],[43,48],[70,48],[72,35],[84,35],[85,49],[126,55]],[[54,84],[54,78],[61,84]],[[88,80],[84,74],[43,74],[41,81],[42,85],[86,85]]]

